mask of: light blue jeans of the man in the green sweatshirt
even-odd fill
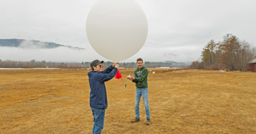
[[[143,97],[143,102],[146,110],[147,119],[150,119],[149,105],[148,105],[148,88],[136,88],[135,91],[135,114],[136,118],[140,118],[140,97]]]

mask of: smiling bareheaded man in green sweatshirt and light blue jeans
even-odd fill
[[[137,59],[138,68],[134,71],[134,77],[127,77],[127,79],[132,80],[132,82],[136,83],[136,91],[135,91],[135,114],[136,117],[132,120],[132,123],[140,121],[140,97],[142,95],[143,102],[147,115],[146,124],[149,125],[150,121],[150,112],[148,105],[148,69],[143,65],[143,60],[141,58]]]

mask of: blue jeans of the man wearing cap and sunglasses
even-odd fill
[[[104,127],[104,119],[105,119],[105,108],[92,108],[92,115],[93,115],[93,128],[92,133],[98,134],[101,133]]]

